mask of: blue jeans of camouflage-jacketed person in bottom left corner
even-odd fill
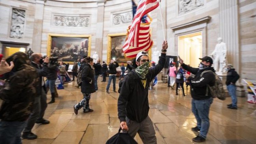
[[[26,121],[0,121],[0,143],[22,144],[21,133],[26,126]]]

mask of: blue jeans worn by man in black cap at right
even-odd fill
[[[197,127],[200,129],[199,136],[206,139],[210,127],[209,111],[213,102],[212,97],[204,100],[196,100],[192,98],[192,112],[197,119]]]

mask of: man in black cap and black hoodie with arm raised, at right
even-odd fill
[[[186,79],[190,82],[190,90],[192,97],[192,112],[194,113],[197,126],[191,128],[193,131],[200,131],[199,135],[193,138],[194,142],[204,142],[210,127],[209,121],[209,112],[210,106],[213,102],[213,98],[208,86],[214,86],[215,84],[215,70],[212,68],[213,60],[211,57],[205,56],[199,58],[202,62],[199,65],[199,68],[192,68],[183,63],[183,60],[180,59],[180,64],[183,69],[190,71],[192,74],[195,74],[195,77],[191,77],[189,74],[186,74]],[[201,73],[203,71],[208,71]],[[212,71],[212,72],[211,72]]]

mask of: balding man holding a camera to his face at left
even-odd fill
[[[47,76],[49,73],[48,69],[49,57],[43,58],[39,53],[33,53],[31,55],[31,66],[37,69],[37,73],[39,75],[39,86],[36,88],[37,96],[35,97],[35,101],[33,104],[33,111],[31,112],[27,125],[23,131],[22,138],[33,140],[37,139],[37,135],[31,132],[35,123],[37,124],[49,124],[50,121],[45,120],[43,118],[44,111],[46,110],[46,87],[44,84],[44,76]]]

